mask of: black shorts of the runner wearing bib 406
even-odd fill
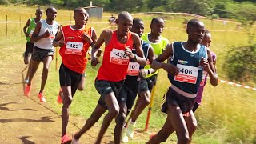
[[[163,96],[161,111],[166,113],[168,105],[175,105],[180,107],[182,114],[186,114],[192,110],[194,102],[195,98],[187,98],[169,87],[166,94]]]

